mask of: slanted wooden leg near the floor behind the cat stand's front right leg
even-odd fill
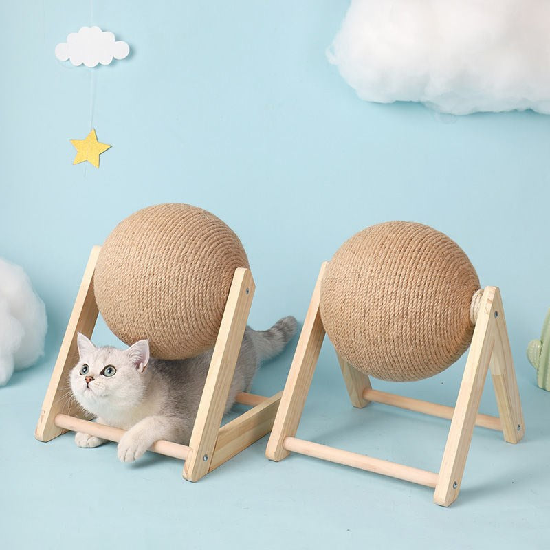
[[[282,394],[264,399],[219,429],[209,472],[271,431]]]

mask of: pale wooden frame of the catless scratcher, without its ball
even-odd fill
[[[267,443],[265,453],[267,458],[280,461],[290,452],[298,452],[318,459],[369,470],[369,472],[433,487],[435,489],[434,502],[441,506],[450,505],[459,494],[474,425],[502,431],[504,439],[508,443],[518,443],[525,430],[504,310],[498,288],[485,287],[483,291],[459,397],[454,408],[373,390],[367,375],[353,369],[342,358],[338,358],[353,406],[362,408],[369,402],[375,401],[451,419],[439,473],[428,472],[295,437],[321,344],[325,337],[319,300],[320,286],[326,265],[324,263],[321,267],[300,340],[298,340],[296,354],[290,367],[283,397],[281,397],[281,406]],[[481,393],[489,366],[499,417],[478,415]]]

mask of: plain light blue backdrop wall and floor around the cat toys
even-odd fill
[[[8,538],[74,547],[81,533],[78,544],[88,547],[86,522],[102,524],[115,501],[120,517],[116,529],[102,524],[105,540],[136,547],[155,527],[190,547],[311,547],[306,536],[321,547],[440,540],[439,547],[473,548],[495,538],[505,547],[525,537],[545,547],[550,396],[536,388],[525,347],[550,305],[550,118],[530,111],[456,118],[418,104],[362,102],[325,58],[347,5],[1,3],[0,254],[25,267],[50,320],[43,362],[0,388],[9,434],[1,470],[14,474],[0,496]],[[127,41],[129,58],[96,69],[58,61],[56,44],[91,23]],[[99,170],[72,165],[69,139],[83,139],[91,122],[112,144]],[[87,452],[69,436],[36,443],[34,423],[91,245],[131,212],[166,201],[206,208],[239,234],[256,279],[255,327],[284,314],[303,320],[321,261],[366,225],[406,219],[449,234],[482,284],[502,289],[525,441],[514,447],[476,432],[450,510],[434,507],[428,490],[388,478],[300,457],[270,463],[265,439],[196,485],[182,484],[168,459],[124,467],[112,445]],[[109,340],[101,328],[98,337]],[[266,366],[256,391],[277,391],[291,358],[289,350]],[[452,404],[462,364],[397,392]],[[489,392],[483,406],[496,412]],[[382,406],[353,410],[326,345],[300,430],[437,470],[447,428]],[[37,506],[35,529],[21,533],[19,514]],[[55,507],[67,514],[67,538]],[[140,511],[146,520],[136,525]]]

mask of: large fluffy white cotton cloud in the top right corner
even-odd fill
[[[352,0],[327,50],[366,101],[550,113],[550,2]]]

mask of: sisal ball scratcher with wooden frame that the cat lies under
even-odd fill
[[[124,430],[82,416],[67,395],[77,333],[91,337],[100,312],[126,344],[148,338],[161,359],[185,359],[214,347],[189,445],[157,441],[150,450],[185,460],[198,481],[270,432],[281,393],[239,393],[252,406],[221,426],[243,340],[254,279],[239,238],[206,210],[186,204],[144,208],[91,250],[41,410],[36,439],[67,430],[120,441]]]

